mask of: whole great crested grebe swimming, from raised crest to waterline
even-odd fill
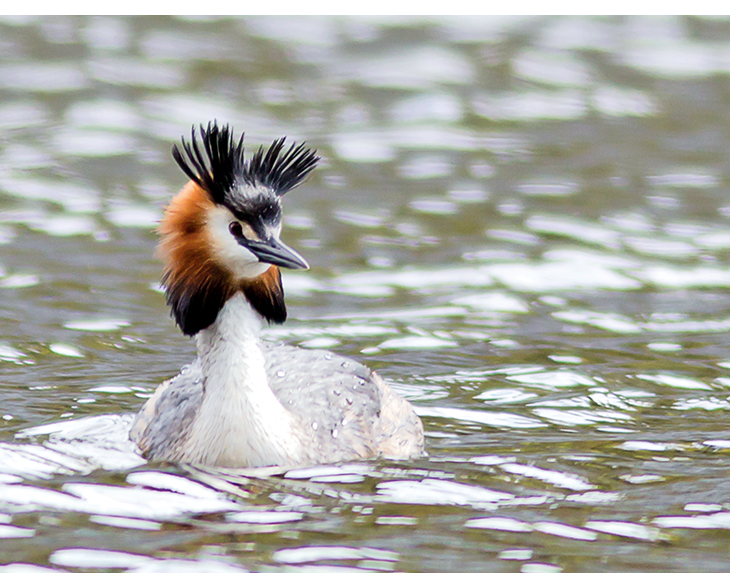
[[[279,267],[308,269],[285,245],[281,196],[319,157],[285,138],[244,158],[243,135],[193,127],[175,161],[190,181],[158,232],[167,304],[198,357],[161,384],[130,438],[144,457],[227,467],[299,466],[424,453],[413,407],[342,356],[261,340],[286,320]]]

